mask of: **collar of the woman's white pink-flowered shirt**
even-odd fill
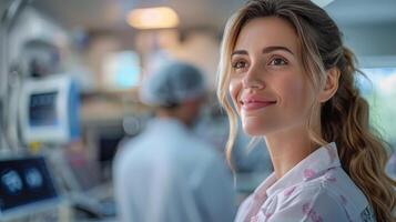
[[[332,142],[311,153],[281,179],[276,180],[275,173],[272,173],[255,190],[254,195],[257,198],[265,194],[270,196],[280,190],[284,190],[303,181],[312,180],[328,169],[337,167],[341,167],[337,147],[335,142]]]

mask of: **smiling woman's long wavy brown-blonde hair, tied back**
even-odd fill
[[[368,123],[368,104],[355,87],[355,57],[344,47],[342,33],[328,14],[309,0],[251,0],[231,17],[225,27],[219,64],[217,97],[230,121],[226,155],[231,160],[237,114],[229,98],[231,53],[242,28],[252,19],[277,17],[290,22],[302,50],[303,67],[315,90],[326,81],[326,70],[337,68],[341,72],[338,89],[321,109],[322,134],[314,132],[314,113],[307,129],[312,141],[324,145],[337,143],[343,169],[365,193],[377,221],[395,221],[392,212],[396,204],[396,182],[385,173],[388,160],[386,143],[373,132]]]

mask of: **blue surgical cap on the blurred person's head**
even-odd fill
[[[202,97],[205,81],[201,71],[189,63],[172,61],[143,81],[140,98],[154,107],[172,107]]]

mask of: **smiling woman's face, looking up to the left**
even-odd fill
[[[268,135],[305,128],[314,93],[290,23],[275,17],[248,21],[231,65],[230,93],[246,133]]]

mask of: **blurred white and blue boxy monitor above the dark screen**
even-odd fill
[[[80,134],[77,83],[67,75],[28,80],[20,103],[23,141],[67,143]]]

